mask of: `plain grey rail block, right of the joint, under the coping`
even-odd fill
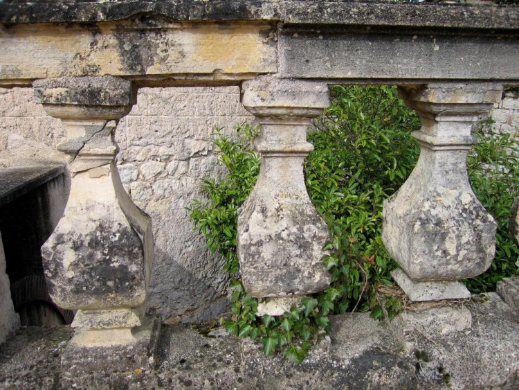
[[[519,79],[519,39],[444,30],[288,30],[277,37],[283,78],[337,80]]]

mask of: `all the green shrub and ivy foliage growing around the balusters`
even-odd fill
[[[383,318],[401,307],[397,298],[377,292],[392,284],[390,271],[397,266],[383,247],[381,212],[383,201],[415,166],[419,146],[410,133],[419,129],[420,121],[394,87],[331,87],[331,95],[331,107],[314,121],[316,131],[308,135],[315,149],[304,166],[309,196],[331,234],[325,245],[329,254],[322,259],[331,273],[325,291],[305,297],[282,316],[260,318],[255,315],[258,299],[245,292],[239,279],[237,211],[260,170],[260,157],[252,147],[257,129],[237,127],[237,140],[217,132],[219,159],[228,175],[204,179],[209,204],[194,201],[190,206],[195,227],[208,238],[208,247],[224,256],[224,267],[233,276],[230,317],[222,319],[227,330],[259,338],[267,356],[281,350],[292,362],[301,362],[309,346],[329,332],[329,314],[372,310],[372,317]],[[516,271],[518,249],[505,233],[511,200],[519,189],[514,150],[519,152],[509,136],[493,136],[476,145],[468,159],[475,193],[499,223],[492,268],[466,281],[475,292],[495,287],[498,279]]]

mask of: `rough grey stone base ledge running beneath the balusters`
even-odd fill
[[[156,369],[62,369],[71,328],[22,328],[0,348],[0,387],[16,389],[480,389],[519,387],[519,317],[495,293],[477,296],[470,330],[403,333],[368,313],[331,318],[330,337],[302,364],[266,358],[259,341],[163,326]],[[223,334],[223,335],[221,335]]]

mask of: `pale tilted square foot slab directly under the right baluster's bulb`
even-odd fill
[[[414,282],[401,269],[394,269],[391,276],[411,301],[441,301],[471,297],[471,292],[461,282]]]

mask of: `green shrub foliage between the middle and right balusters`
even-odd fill
[[[331,107],[309,134],[315,149],[304,168],[313,204],[331,233],[323,259],[338,293],[334,312],[373,309],[390,316],[389,299],[376,301],[379,283],[390,284],[396,267],[381,240],[382,204],[414,168],[419,146],[410,136],[420,127],[415,112],[394,87],[333,87]]]

